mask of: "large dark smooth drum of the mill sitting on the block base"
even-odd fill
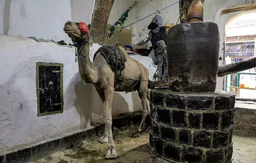
[[[213,22],[181,23],[167,35],[169,90],[214,92],[218,74],[218,25]]]

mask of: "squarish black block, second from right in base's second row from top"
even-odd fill
[[[204,129],[218,129],[219,116],[218,113],[203,114]]]

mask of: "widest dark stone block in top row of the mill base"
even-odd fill
[[[210,110],[212,107],[212,97],[189,97],[187,106],[189,110]]]

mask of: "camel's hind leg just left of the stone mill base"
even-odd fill
[[[147,109],[147,92],[146,91],[143,91],[143,92],[140,92],[139,91],[139,96],[140,96],[140,100],[141,100],[141,104],[142,104],[142,120],[140,122],[140,126],[139,126],[139,129],[137,132],[134,133],[133,137],[134,138],[138,138],[140,137],[140,133],[142,131],[142,126],[145,122],[145,119],[147,117],[147,114],[148,114],[148,109]]]

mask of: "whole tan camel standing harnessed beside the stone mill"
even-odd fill
[[[80,22],[83,23],[83,22]],[[90,31],[90,24],[88,24],[88,31]],[[142,126],[145,118],[149,112],[146,100],[150,100],[148,89],[148,69],[140,62],[131,58],[125,51],[124,47],[116,44],[114,48],[121,51],[125,58],[125,68],[120,71],[113,71],[111,64],[108,64],[104,52],[99,51],[94,55],[93,62],[89,58],[89,32],[84,34],[79,29],[79,23],[67,21],[64,25],[64,32],[76,43],[77,60],[79,64],[79,73],[85,82],[91,83],[96,88],[103,102],[103,115],[105,122],[105,131],[103,136],[99,139],[101,143],[108,142],[108,152],[105,155],[106,159],[113,159],[117,157],[115,144],[112,137],[112,115],[111,107],[113,101],[113,93],[117,92],[131,92],[137,90],[141,99],[143,111],[142,120],[137,132],[133,137],[140,136]],[[108,57],[107,57],[108,58]]]

